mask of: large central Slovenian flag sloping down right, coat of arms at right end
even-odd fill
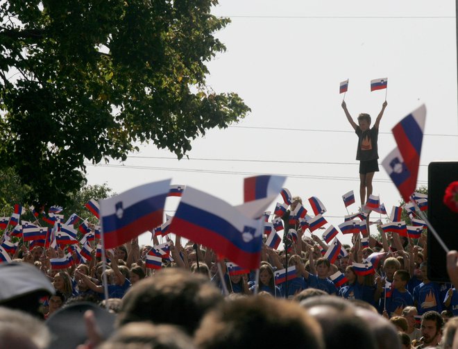
[[[248,218],[226,201],[187,187],[171,230],[212,248],[243,268],[258,269],[263,225],[262,220]]]

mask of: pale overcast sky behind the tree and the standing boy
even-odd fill
[[[317,196],[337,226],[347,214],[343,194],[355,191],[350,213],[359,205],[357,136],[339,94],[347,78],[345,100],[354,119],[359,112],[375,119],[387,92],[379,163],[396,145],[391,128],[423,103],[418,185],[427,185],[430,162],[458,159],[455,1],[223,0],[213,12],[232,23],[217,34],[227,51],[208,64],[208,85],[237,92],[252,112],[194,141],[189,160],[144,146],[124,163],[88,166],[89,184],[106,182],[120,193],[172,178],[238,205],[245,177],[284,175],[291,194],[305,201]],[[388,78],[388,90],[370,92],[375,78]],[[381,166],[373,187],[389,212],[398,205],[400,195]],[[169,198],[167,213],[173,215],[177,203]],[[308,203],[305,208],[312,211]]]

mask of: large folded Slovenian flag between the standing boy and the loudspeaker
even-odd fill
[[[406,203],[416,189],[425,119],[426,108],[421,105],[396,124],[392,132],[398,146],[382,162]]]

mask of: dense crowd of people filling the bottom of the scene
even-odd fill
[[[258,271],[178,236],[153,268],[158,237],[106,250],[105,264],[96,248],[86,261],[71,252],[63,269],[50,261],[64,246],[24,245],[0,264],[0,348],[458,348],[458,253],[448,255],[451,284],[428,278],[424,235],[381,231],[368,246],[355,235],[331,263],[319,235],[283,219],[297,236],[285,235],[279,250],[264,245]],[[361,273],[366,259],[375,268]],[[284,269],[293,273],[275,278]],[[76,323],[83,333],[72,341]]]

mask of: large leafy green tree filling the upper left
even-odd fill
[[[126,160],[135,142],[178,158],[250,110],[205,85],[229,23],[217,0],[10,0],[0,5],[0,160],[28,201],[65,205],[85,161]]]

